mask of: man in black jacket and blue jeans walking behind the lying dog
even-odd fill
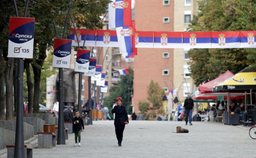
[[[185,117],[186,117],[186,125],[188,125],[188,117],[189,117],[189,125],[192,125],[192,112],[194,108],[194,100],[191,98],[191,94],[188,94],[188,97],[184,101],[184,107],[185,109]]]

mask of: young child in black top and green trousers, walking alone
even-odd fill
[[[73,130],[75,132],[75,141],[76,144],[74,146],[77,146],[77,137],[78,137],[78,146],[81,146],[81,130],[82,130],[82,126],[83,126],[83,130],[84,130],[84,122],[83,119],[79,117],[79,111],[76,110],[75,111],[75,117],[73,118]]]

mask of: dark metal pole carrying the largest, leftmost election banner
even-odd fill
[[[16,16],[19,17],[18,7],[16,0],[13,0],[14,8],[16,11]],[[26,12],[28,9],[29,0],[26,1],[26,8],[24,12],[24,17],[26,17]],[[24,74],[24,61],[22,58],[18,58],[18,67],[17,67],[17,99],[18,107],[16,114],[16,133],[15,133],[15,147],[14,147],[14,158],[24,158],[24,128],[23,128],[23,74]]]

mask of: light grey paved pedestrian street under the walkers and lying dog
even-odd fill
[[[248,128],[210,122],[130,121],[118,147],[113,121],[94,121],[81,133],[80,147],[74,134],[66,145],[33,149],[34,158],[254,158],[256,140]],[[176,126],[189,133],[172,133]],[[4,158],[4,155],[2,155]]]

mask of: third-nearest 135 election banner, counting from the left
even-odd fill
[[[90,50],[77,50],[76,55],[76,72],[88,72],[90,61]]]

